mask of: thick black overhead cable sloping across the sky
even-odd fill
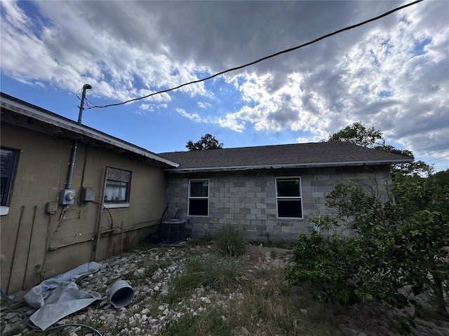
[[[147,94],[146,96],[143,96],[143,97],[134,98],[134,99],[129,99],[129,100],[127,100],[126,102],[121,102],[121,103],[116,103],[116,104],[107,104],[107,105],[104,105],[104,106],[97,106],[97,105],[95,105],[95,104],[92,104],[92,106],[88,106],[88,109],[93,109],[93,108],[95,108],[95,107],[98,108],[98,109],[104,109],[104,108],[109,107],[109,106],[119,106],[119,105],[127,104],[127,103],[130,103],[130,102],[135,102],[136,100],[140,100],[140,99],[145,99],[145,98],[148,98],[148,97],[152,97],[152,96],[154,96],[155,94],[161,94],[161,93],[164,93],[164,92],[169,92],[169,91],[177,90],[177,89],[179,89],[180,87],[183,87],[183,86],[186,86],[186,85],[191,85],[191,84],[195,84],[195,83],[201,83],[201,82],[203,82],[203,81],[205,81],[205,80],[209,80],[209,79],[211,79],[211,78],[220,76],[220,75],[222,75],[222,74],[224,74],[224,73],[231,72],[231,71],[236,71],[236,70],[239,70],[239,69],[243,69],[243,68],[245,68],[246,66],[250,66],[250,65],[253,65],[253,64],[262,62],[262,61],[264,61],[265,59],[269,59],[269,58],[272,58],[272,57],[276,57],[276,56],[285,54],[286,52],[290,52],[290,51],[293,51],[293,50],[297,50],[297,49],[299,49],[299,48],[303,48],[303,47],[305,47],[305,46],[307,46],[307,45],[311,45],[311,44],[313,44],[313,43],[316,43],[316,42],[318,42],[318,41],[321,41],[321,40],[323,40],[324,38],[328,38],[328,37],[330,37],[330,36],[333,36],[333,35],[336,35],[336,34],[340,34],[342,31],[347,31],[347,30],[350,30],[350,29],[354,29],[354,28],[356,28],[356,27],[360,27],[360,26],[362,26],[362,25],[366,25],[366,24],[369,23],[369,22],[373,22],[373,21],[375,21],[375,20],[379,20],[380,18],[384,18],[385,16],[390,15],[391,13],[394,13],[394,12],[396,12],[396,11],[398,11],[398,10],[401,10],[401,9],[403,9],[403,8],[406,8],[406,7],[408,7],[408,6],[415,5],[415,3],[418,3],[418,2],[421,2],[421,1],[423,1],[423,0],[413,1],[412,3],[408,3],[408,4],[403,5],[403,6],[400,6],[400,7],[398,7],[398,8],[394,8],[394,9],[392,9],[392,10],[389,10],[388,12],[383,13],[382,15],[376,16],[375,18],[372,18],[372,19],[370,19],[370,20],[366,20],[366,21],[363,21],[363,22],[358,23],[358,24],[356,24],[356,25],[352,25],[352,26],[349,26],[349,27],[346,27],[346,28],[339,29],[339,30],[337,30],[337,31],[334,31],[333,33],[326,34],[326,35],[324,35],[324,36],[321,36],[321,37],[319,37],[319,38],[316,38],[316,39],[314,39],[313,41],[309,41],[309,42],[304,43],[304,44],[302,44],[302,45],[297,45],[296,47],[293,47],[293,48],[290,48],[290,49],[286,49],[286,50],[282,50],[282,51],[276,52],[276,53],[274,53],[274,54],[272,54],[272,55],[269,55],[269,56],[266,56],[266,57],[262,57],[262,58],[260,58],[260,59],[255,60],[254,62],[250,62],[250,63],[248,63],[248,64],[244,64],[244,65],[241,65],[241,66],[236,66],[236,67],[234,67],[234,68],[232,68],[232,69],[227,69],[227,70],[225,70],[225,71],[221,71],[221,72],[219,72],[219,73],[215,73],[215,75],[208,76],[208,77],[206,77],[206,78],[202,78],[202,79],[199,79],[199,80],[193,80],[192,82],[184,83],[184,84],[178,85],[177,87],[172,87],[172,88],[167,89],[167,90],[161,90],[161,91],[158,91],[158,92],[154,92],[154,93],[152,93],[152,94]]]

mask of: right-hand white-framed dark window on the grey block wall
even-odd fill
[[[279,218],[302,218],[300,177],[276,178]]]

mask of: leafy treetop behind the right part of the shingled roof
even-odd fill
[[[327,141],[344,141],[358,146],[374,148],[384,142],[382,132],[374,127],[366,128],[363,123],[353,123],[342,130],[330,134]],[[380,141],[380,142],[379,142]]]

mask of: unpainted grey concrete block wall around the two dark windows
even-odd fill
[[[303,219],[277,218],[275,179],[282,176],[301,177]],[[327,213],[326,193],[335,183],[358,180],[382,192],[389,178],[387,166],[169,174],[168,216],[177,211],[177,218],[187,220],[192,237],[214,235],[222,225],[236,225],[248,239],[292,241],[313,228],[308,218]],[[208,217],[187,216],[189,179],[209,179]]]

